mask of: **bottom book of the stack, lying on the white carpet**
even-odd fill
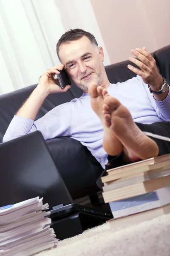
[[[124,227],[134,226],[144,221],[152,220],[153,218],[159,217],[164,214],[170,213],[170,204],[167,204],[163,207],[157,207],[155,209],[146,210],[144,212],[138,212],[124,217],[113,218],[109,220],[111,228],[121,229]]]

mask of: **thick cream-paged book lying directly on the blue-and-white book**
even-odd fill
[[[152,180],[136,183],[133,185],[113,189],[102,192],[105,203],[119,201],[121,199],[130,198],[137,195],[142,195],[147,192],[170,186],[170,175],[159,177]]]

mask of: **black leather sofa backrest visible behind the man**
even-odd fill
[[[156,59],[156,64],[159,67],[160,73],[170,84],[170,45],[153,52],[152,55]],[[114,84],[117,82],[124,82],[136,76],[135,73],[127,68],[128,64],[132,63],[127,60],[106,66],[105,70],[109,81]],[[11,93],[0,95],[0,143],[2,143],[3,136],[13,116],[23,105],[36,86],[37,84],[34,84]],[[41,106],[36,119],[44,116],[45,113],[50,111],[52,108],[55,108],[56,106],[65,102],[70,102],[74,98],[79,98],[81,95],[82,90],[79,89],[75,84],[72,84],[71,89],[69,89],[66,93],[49,95]]]

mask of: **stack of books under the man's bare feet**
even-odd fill
[[[103,198],[111,227],[127,227],[170,213],[170,154],[107,170]]]

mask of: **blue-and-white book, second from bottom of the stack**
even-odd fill
[[[114,218],[170,204],[170,186],[143,195],[109,202]]]

